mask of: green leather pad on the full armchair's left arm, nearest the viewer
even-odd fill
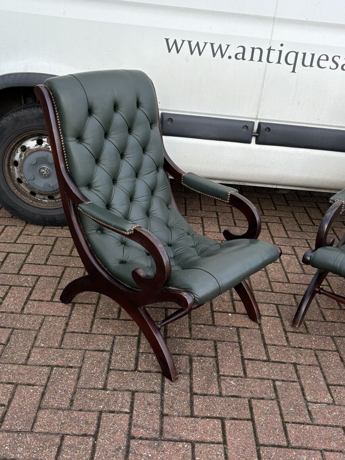
[[[90,219],[98,222],[98,224],[101,224],[110,230],[114,230],[117,233],[121,233],[122,235],[132,235],[133,229],[139,226],[123,219],[123,217],[111,213],[107,209],[104,209],[91,201],[89,203],[81,203],[78,206],[78,210]]]

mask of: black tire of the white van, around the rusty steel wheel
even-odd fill
[[[12,190],[6,179],[4,160],[7,150],[16,139],[35,131],[46,132],[40,104],[23,105],[0,119],[0,203],[14,216],[33,224],[65,225],[62,205],[55,208],[32,206]]]

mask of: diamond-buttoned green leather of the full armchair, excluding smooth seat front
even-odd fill
[[[84,195],[139,224],[163,243],[172,269],[216,244],[197,235],[173,207],[163,169],[155,91],[138,70],[107,70],[48,79],[57,109],[69,173]],[[155,273],[136,242],[80,213],[93,252],[118,279],[136,287],[132,270]]]

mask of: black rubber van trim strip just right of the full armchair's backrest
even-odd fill
[[[250,144],[254,122],[162,112],[161,126],[164,136]]]

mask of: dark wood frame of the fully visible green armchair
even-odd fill
[[[60,300],[68,304],[77,294],[86,291],[102,293],[113,299],[124,308],[129,316],[137,323],[150,343],[163,374],[168,379],[174,381],[177,379],[175,364],[167,344],[160,333],[160,329],[170,322],[187,315],[190,311],[199,308],[202,304],[194,305],[193,296],[188,292],[167,287],[167,282],[171,275],[170,259],[158,238],[140,226],[134,227],[132,234],[127,237],[143,246],[154,259],[156,266],[156,273],[152,277],[148,276],[141,269],[132,271],[133,279],[140,290],[132,289],[122,284],[99,263],[86,241],[78,218],[77,206],[81,203],[89,202],[89,200],[81,193],[69,176],[63,150],[62,134],[52,96],[46,86],[43,85],[35,87],[35,94],[43,108],[61,200],[69,230],[87,272],[87,275],[81,276],[70,282],[63,289]],[[159,112],[158,123],[161,132]],[[182,183],[184,172],[169,158],[165,148],[164,169],[167,176],[170,174],[175,180]],[[173,206],[178,210],[173,196],[172,200]],[[261,230],[261,220],[253,204],[238,193],[229,193],[228,203],[244,214],[248,222],[248,229],[243,234],[239,234],[231,229],[226,229],[223,232],[224,238],[226,240],[258,238]],[[111,228],[111,230],[114,229]],[[261,321],[259,307],[247,282],[243,281],[237,284],[234,289],[242,300],[249,318],[259,323]],[[146,310],[145,305],[154,304],[156,302],[174,302],[179,305],[180,308],[161,322],[155,322]]]

